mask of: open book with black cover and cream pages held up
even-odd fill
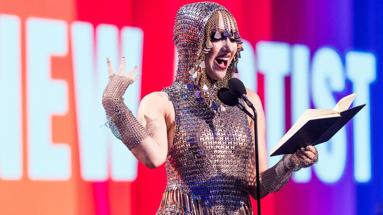
[[[330,109],[307,109],[270,151],[271,156],[293,154],[301,147],[328,141],[366,104],[350,108],[356,94],[339,100]]]

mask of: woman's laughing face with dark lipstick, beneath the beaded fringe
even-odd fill
[[[227,20],[227,23],[232,23],[232,21]],[[222,29],[225,27],[223,25],[222,16],[220,13],[219,28],[221,29],[219,33],[223,35],[224,30]],[[231,32],[231,29],[228,30]],[[215,39],[215,32],[212,32],[212,34],[213,35],[211,37],[211,41],[213,48],[211,48],[208,54],[205,54],[205,72],[209,78],[213,80],[219,80],[223,79],[226,75],[227,67],[237,52],[237,43],[234,41],[234,39],[230,38]]]

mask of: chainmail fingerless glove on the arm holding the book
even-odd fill
[[[287,184],[294,172],[316,162],[318,162],[318,153],[310,162],[298,159],[296,154],[284,155],[273,167],[260,174],[260,186],[269,193],[276,192]]]

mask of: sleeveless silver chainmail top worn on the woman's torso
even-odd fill
[[[165,161],[166,190],[179,189],[190,199],[186,204],[162,202],[158,215],[176,214],[171,213],[176,206],[185,207],[183,213],[198,214],[190,201],[205,207],[203,214],[238,215],[244,207],[252,213],[248,168],[253,143],[246,114],[237,107],[218,112],[198,102],[195,89],[186,84],[173,83],[163,91],[173,102],[176,124]]]

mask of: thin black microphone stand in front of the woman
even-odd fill
[[[242,111],[244,111],[251,119],[254,120],[254,151],[255,151],[255,185],[257,187],[257,213],[258,215],[261,215],[261,189],[260,189],[260,182],[259,182],[259,153],[258,153],[258,129],[257,129],[257,111],[255,110],[253,104],[251,104],[250,101],[245,100],[247,106],[249,106],[252,110],[254,115],[251,115],[249,111],[246,110],[246,108],[241,105],[237,104],[237,107],[240,108]]]

